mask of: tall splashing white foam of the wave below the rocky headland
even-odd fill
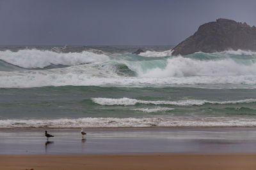
[[[140,77],[191,77],[191,76],[241,76],[256,75],[256,63],[244,65],[232,59],[195,60],[184,57],[173,57],[167,60],[166,67],[156,67]]]

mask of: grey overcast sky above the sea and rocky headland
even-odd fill
[[[199,25],[256,25],[250,0],[0,0],[0,45],[176,45]]]

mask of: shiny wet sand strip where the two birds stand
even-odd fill
[[[256,128],[0,130],[0,154],[126,154],[256,152]]]

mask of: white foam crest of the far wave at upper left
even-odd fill
[[[75,66],[88,62],[107,61],[109,56],[92,52],[56,53],[33,49],[19,50],[18,52],[0,51],[0,59],[19,67],[44,68],[51,64]]]

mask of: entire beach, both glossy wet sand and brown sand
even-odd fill
[[[255,130],[1,129],[0,169],[255,169]]]

